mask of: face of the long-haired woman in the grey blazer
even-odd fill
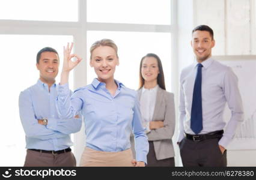
[[[154,57],[145,57],[142,60],[141,74],[145,82],[156,80],[159,74],[157,59]]]

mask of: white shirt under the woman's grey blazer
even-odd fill
[[[153,119],[154,114],[154,106],[156,104],[156,94],[158,85],[154,88],[146,89],[144,86],[142,87],[141,92],[141,115],[142,115],[142,125],[146,128],[146,132],[150,131],[149,122]]]

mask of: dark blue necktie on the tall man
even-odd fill
[[[195,85],[193,91],[193,100],[191,108],[190,128],[195,134],[200,133],[203,129],[202,115],[202,64],[197,64],[197,76],[195,77]]]

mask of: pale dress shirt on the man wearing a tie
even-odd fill
[[[195,134],[190,129],[190,115],[197,64],[198,62],[194,62],[194,64],[181,71],[178,142],[183,139],[184,133]],[[203,65],[203,130],[200,134],[223,130],[225,128],[226,123],[223,119],[223,112],[227,102],[231,110],[231,119],[228,121],[223,137],[219,140],[219,145],[227,147],[236,133],[237,124],[243,121],[243,106],[237,85],[238,79],[230,67],[212,58],[206,59],[201,64]]]

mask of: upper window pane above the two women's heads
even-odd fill
[[[170,0],[87,0],[87,21],[171,24]]]

